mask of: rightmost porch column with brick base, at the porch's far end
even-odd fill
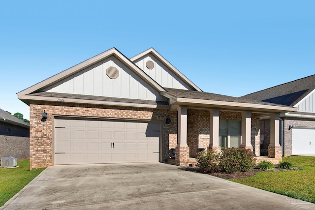
[[[270,144],[268,147],[268,157],[282,159],[282,148],[279,144],[280,114],[270,114]]]

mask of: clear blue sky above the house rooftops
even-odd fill
[[[0,108],[116,47],[153,47],[203,91],[242,96],[315,74],[315,1],[1,0]]]

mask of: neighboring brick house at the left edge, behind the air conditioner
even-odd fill
[[[30,158],[30,125],[0,109],[0,159]]]

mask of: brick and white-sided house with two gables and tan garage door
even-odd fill
[[[187,166],[200,150],[221,147],[256,153],[259,117],[265,115],[271,116],[268,156],[276,163],[282,158],[279,116],[297,111],[203,92],[153,48],[130,59],[109,49],[17,95],[30,106],[31,169],[129,162]]]

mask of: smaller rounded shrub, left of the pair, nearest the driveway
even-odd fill
[[[220,153],[209,150],[199,152],[197,155],[197,166],[202,173],[217,173],[221,171],[220,168]]]

